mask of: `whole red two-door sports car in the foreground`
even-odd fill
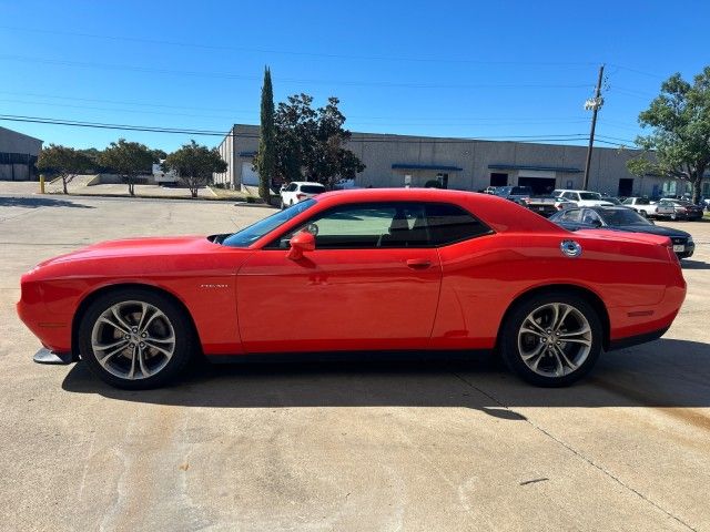
[[[164,385],[196,354],[449,349],[562,386],[660,337],[684,295],[666,237],[398,188],[323,194],[234,234],[97,244],[26,274],[18,313],[37,361],[81,357],[121,388]]]

